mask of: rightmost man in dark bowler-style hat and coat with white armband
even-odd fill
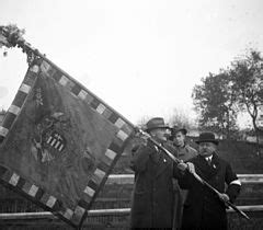
[[[196,143],[198,156],[190,160],[193,163],[192,172],[196,172],[220,195],[197,182],[187,170],[184,171],[179,184],[182,188],[188,189],[188,195],[184,203],[182,229],[226,230],[228,225],[225,202],[235,202],[241,183],[230,164],[218,156],[218,140],[213,133],[202,133]],[[183,164],[178,166],[186,168]],[[225,183],[228,185],[227,189]]]

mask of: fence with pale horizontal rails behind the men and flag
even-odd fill
[[[239,179],[243,186],[258,186],[262,194],[263,174],[239,174]],[[106,182],[104,194],[108,192],[111,186],[129,186],[133,188],[134,175],[133,174],[112,174]],[[250,192],[251,189],[249,189]],[[130,193],[128,192],[130,195]],[[116,194],[117,196],[117,194]],[[127,195],[126,195],[127,196]],[[119,196],[117,196],[118,198]],[[259,197],[258,197],[259,198]],[[99,196],[100,199],[100,196]],[[129,200],[130,197],[127,197]],[[247,222],[244,219],[238,217],[232,210],[228,210],[229,228],[231,230],[244,230],[244,229],[263,229],[263,198],[259,200],[262,204],[256,205],[239,205],[238,207],[247,212],[252,221]],[[104,198],[106,203],[106,198]],[[129,207],[119,208],[102,208],[89,210],[88,218],[83,225],[83,229],[128,229],[129,221]],[[0,227],[5,229],[70,229],[66,223],[57,219],[53,214],[48,211],[39,212],[13,212],[13,214],[0,214]]]

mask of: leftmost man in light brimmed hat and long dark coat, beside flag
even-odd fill
[[[168,125],[155,117],[146,124],[146,131],[175,154],[167,142]],[[135,187],[132,200],[132,229],[172,228],[173,162],[152,142],[145,141],[132,154]]]

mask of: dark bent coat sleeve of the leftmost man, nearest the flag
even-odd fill
[[[142,172],[146,170],[147,161],[149,160],[150,153],[152,149],[148,146],[140,145],[136,146],[132,150],[132,160],[130,160],[130,168],[135,172]]]

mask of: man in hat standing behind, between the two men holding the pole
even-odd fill
[[[171,128],[170,141],[178,151],[178,158],[183,162],[197,156],[197,151],[186,142],[187,130],[173,126]],[[183,204],[187,196],[186,189],[178,189],[178,180],[173,179],[175,192],[174,192],[174,217],[173,217],[173,229],[180,229],[182,216],[183,216]],[[178,193],[176,193],[178,192]]]

